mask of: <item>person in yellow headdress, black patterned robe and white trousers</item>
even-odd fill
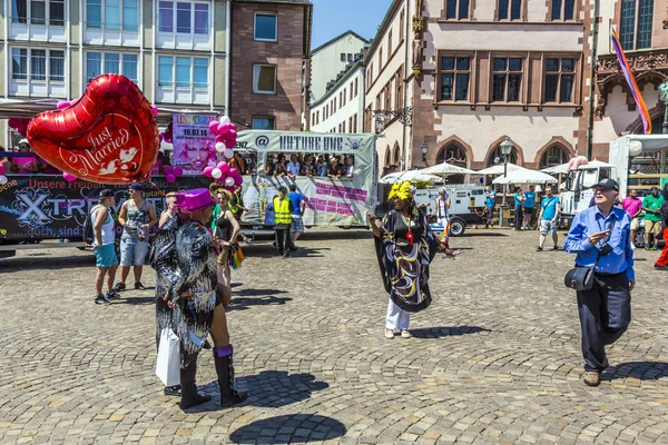
[[[376,216],[369,215],[373,229],[376,254],[385,290],[390,294],[385,337],[411,337],[409,324],[411,313],[425,309],[431,304],[429,290],[429,265],[442,250],[452,251],[440,243],[429,227],[426,215],[418,209],[410,182],[395,184],[389,199],[395,209],[390,210],[379,225]]]

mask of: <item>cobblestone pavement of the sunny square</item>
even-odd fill
[[[572,257],[536,253],[537,233],[455,239],[464,253],[432,264],[434,301],[413,317],[413,338],[392,340],[370,234],[308,235],[289,259],[246,248],[233,274],[237,386],[249,398],[228,409],[210,352],[198,383],[212,403],[183,413],[161,394],[153,290],[99,307],[88,253],[2,260],[0,443],[668,443],[658,253],[638,251],[632,324],[590,388],[562,284]]]

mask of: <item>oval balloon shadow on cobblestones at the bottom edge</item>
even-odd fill
[[[332,441],[346,433],[345,426],[317,414],[287,414],[255,421],[232,432],[235,444],[289,444]]]

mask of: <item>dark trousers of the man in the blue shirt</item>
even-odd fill
[[[596,274],[593,287],[578,291],[578,312],[584,369],[600,373],[607,365],[605,346],[617,342],[631,323],[631,294],[626,271]]]

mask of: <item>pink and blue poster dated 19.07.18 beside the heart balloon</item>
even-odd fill
[[[185,176],[200,176],[206,167],[215,167],[216,137],[208,125],[217,115],[175,113],[173,128],[173,167]]]

